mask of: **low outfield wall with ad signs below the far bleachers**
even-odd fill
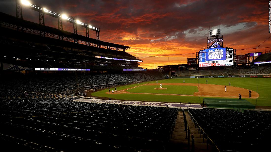
[[[265,77],[265,78],[271,78],[271,75],[205,75],[205,76],[171,76],[170,78],[216,78],[216,77],[251,77],[251,78],[257,78],[257,77]]]

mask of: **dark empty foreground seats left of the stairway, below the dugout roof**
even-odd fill
[[[164,152],[177,108],[0,99],[1,149]],[[12,121],[11,121],[12,120]]]

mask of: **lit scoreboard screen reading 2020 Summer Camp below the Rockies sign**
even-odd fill
[[[221,48],[218,44],[199,51],[199,67],[233,66],[233,49]]]

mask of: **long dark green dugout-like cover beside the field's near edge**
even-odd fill
[[[246,99],[214,99],[214,98],[204,98],[203,103],[207,107],[234,107],[234,108],[253,108],[255,105],[248,102]]]

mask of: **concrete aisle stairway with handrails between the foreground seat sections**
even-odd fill
[[[195,127],[195,125],[193,124],[188,112],[185,112],[186,115],[186,119],[188,120],[188,123],[191,127],[192,133],[194,135],[195,138],[195,151],[199,151],[199,152],[207,152],[207,151],[212,151],[212,146],[209,144],[208,145],[208,149],[207,149],[207,139],[204,139],[203,142],[203,135],[200,135],[200,133],[198,133],[197,128]],[[172,134],[172,137],[170,139],[169,142],[169,148],[180,148],[180,150],[184,150],[187,151],[188,150],[188,139],[186,138],[186,131],[185,131],[185,123],[183,120],[183,113],[182,112],[178,112],[178,116],[177,116],[177,120],[176,120],[176,124],[174,127],[174,131]],[[192,145],[191,139],[190,139],[190,146]],[[191,148],[190,148],[191,150]],[[173,149],[168,149],[167,151],[173,151]]]

